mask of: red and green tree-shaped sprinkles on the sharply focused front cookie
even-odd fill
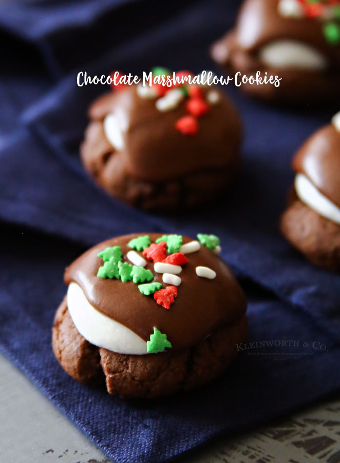
[[[198,241],[212,251],[219,246],[219,238],[215,235],[198,234]],[[131,250],[141,252],[146,259],[154,263],[181,266],[188,262],[186,256],[180,252],[183,238],[181,235],[163,235],[155,243],[151,243],[149,236],[139,236],[128,242]],[[123,283],[133,281],[138,283],[141,294],[146,296],[154,295],[157,304],[169,310],[175,302],[178,290],[176,286],[166,286],[162,288],[162,283],[152,281],[154,274],[142,266],[131,265],[123,262],[121,246],[106,247],[98,254],[103,259],[97,276],[100,278],[120,279]],[[156,327],[154,333],[150,335],[147,342],[147,352],[157,353],[171,348],[171,343],[167,340],[166,334],[161,333]]]

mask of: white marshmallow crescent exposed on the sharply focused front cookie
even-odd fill
[[[123,354],[147,354],[146,342],[91,306],[77,283],[68,286],[67,307],[75,327],[91,344]]]

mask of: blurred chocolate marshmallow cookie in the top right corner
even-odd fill
[[[234,29],[212,47],[212,57],[232,73],[281,78],[279,87],[241,85],[251,96],[292,104],[336,103],[340,2],[245,0]]]

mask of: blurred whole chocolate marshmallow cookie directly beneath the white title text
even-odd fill
[[[108,193],[142,209],[166,212],[218,199],[240,165],[240,118],[214,86],[120,86],[97,99],[89,117],[81,146],[87,171]]]

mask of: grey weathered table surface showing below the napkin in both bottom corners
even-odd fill
[[[1,463],[111,463],[1,355],[0,411]],[[340,398],[333,398],[220,439],[179,463],[339,463],[339,436]]]

